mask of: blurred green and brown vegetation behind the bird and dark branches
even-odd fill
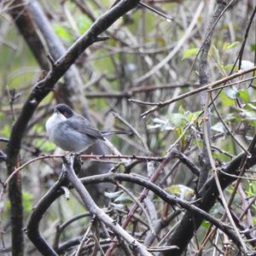
[[[3,182],[7,178],[4,163],[7,147],[5,139],[9,139],[12,125],[19,116],[23,103],[26,102],[33,85],[42,76],[42,66],[40,63],[38,64],[32,50],[26,44],[26,40],[15,26],[15,20],[10,15],[15,9],[14,3],[15,1],[0,2],[0,167],[2,170],[1,181]],[[53,27],[55,35],[68,49],[97,17],[108,10],[112,1],[73,0],[39,1],[38,3]],[[61,93],[63,84],[65,86],[66,83],[65,79],[61,78],[55,85],[55,91],[51,92],[40,103],[27,127],[26,136],[22,140],[21,164],[42,154],[59,154],[61,152],[60,149],[55,148],[53,143],[49,142],[44,124],[45,120],[49,118],[49,114],[52,113],[56,102],[69,100],[73,103],[73,108],[79,113],[84,113],[85,102],[88,105],[93,124],[101,130],[127,130],[127,126],[113,116],[113,112],[119,113],[122,119],[125,119],[141,134],[151,152],[150,154],[154,156],[164,156],[168,148],[171,148],[177,138],[183,134],[175,147],[181,152],[187,153],[195,165],[200,165],[199,159],[203,143],[202,118],[198,118],[198,115],[202,108],[203,99],[199,94],[174,102],[166,108],[161,108],[160,111],[146,119],[142,119],[140,113],[146,111],[148,106],[129,102],[129,99],[143,102],[164,102],[200,86],[199,61],[195,59],[195,56],[201,48],[206,32],[208,32],[207,27],[216,7],[216,1],[148,0],[147,3],[160,9],[166,15],[170,15],[173,20],[168,17],[165,19],[142,6],[138,6],[120,18],[104,33],[109,37],[107,41],[98,42],[86,49],[75,64],[79,70],[81,83],[75,84],[72,95]],[[236,58],[241,50],[253,8],[255,8],[253,1],[232,1],[230,7],[218,20],[212,35],[212,44],[207,59],[206,68],[209,72],[209,82],[227,76],[235,63],[235,71],[241,68],[236,62]],[[198,12],[198,17],[196,17],[195,25],[190,27],[189,34],[186,34],[189,25],[193,24],[196,12]],[[44,44],[44,58],[46,58],[49,53],[49,46],[46,44],[44,34],[39,31],[38,34]],[[246,67],[253,67],[253,63],[255,63],[255,37],[254,17],[253,26],[248,30],[247,41],[240,58]],[[170,53],[172,53],[172,58],[166,64],[148,78],[143,78],[145,73],[161,63]],[[250,76],[252,76],[251,73],[244,78]],[[255,133],[254,86],[256,86],[255,81],[247,81],[247,83],[227,87],[220,92],[215,101],[218,112],[225,123],[230,126],[234,136],[245,148]],[[195,120],[195,118],[197,119]],[[184,132],[184,129],[193,120],[195,120],[194,125],[191,125],[189,130]],[[224,166],[241,152],[241,148],[225,130],[214,110],[212,110],[211,126],[212,154],[218,166]],[[148,155],[148,149],[134,135],[114,136],[110,137],[109,140],[121,154]],[[94,161],[86,160],[84,173],[93,163]],[[117,164],[117,161],[111,161],[110,164]],[[177,196],[185,196],[186,193],[193,194],[194,190],[191,192],[190,189],[195,189],[195,176],[189,172],[187,167],[181,164],[174,165],[176,165],[176,160],[172,160],[166,166],[165,172],[162,173],[157,183]],[[155,164],[155,166],[157,165]],[[148,176],[145,163],[140,163],[132,167],[131,170]],[[53,185],[60,172],[61,161],[59,160],[36,161],[22,170],[25,224],[33,205]],[[125,168],[120,167],[119,172],[125,172]],[[251,169],[247,175],[255,177],[254,169]],[[177,186],[177,184],[183,185],[183,187]],[[99,194],[100,192],[96,190],[94,191],[95,200],[104,197],[98,202],[101,206],[108,204],[108,207],[126,212],[127,208],[131,206],[129,197],[117,201],[112,199],[112,204],[109,204],[107,198],[113,198],[114,195],[111,194],[111,187],[104,187],[105,189],[110,195],[103,195],[102,191]],[[133,186],[131,189],[135,195],[141,191],[141,189]],[[241,191],[236,193],[236,199],[233,203],[233,210],[238,215],[243,212],[243,207],[245,207],[241,206],[242,201],[250,201],[252,198],[255,200],[255,181],[243,180]],[[231,192],[232,186],[225,191],[227,196]],[[164,211],[163,204],[157,198],[154,198],[154,202],[159,218],[161,218]],[[249,209],[251,218],[242,218],[247,227],[251,227],[256,222],[255,204],[253,203]],[[44,237],[48,241],[53,241],[56,226],[81,212],[84,212],[84,207],[76,193],[71,195],[69,201],[63,197],[55,201],[55,204],[44,216],[44,225],[42,225]],[[212,209],[212,214],[217,217],[220,217],[223,212],[224,209],[219,204]],[[119,214],[121,213],[119,212]],[[8,252],[11,244],[7,194],[3,195],[1,201],[0,223],[3,232],[2,251]],[[205,232],[207,227],[208,224],[204,223],[201,230]],[[75,235],[83,234],[83,232],[84,219],[82,218],[73,223],[67,232],[63,233],[63,241]],[[199,235],[199,240],[201,240],[204,232]],[[212,250],[211,247],[209,250]],[[194,252],[193,249],[191,252]],[[37,255],[29,242],[26,242],[26,253]]]

